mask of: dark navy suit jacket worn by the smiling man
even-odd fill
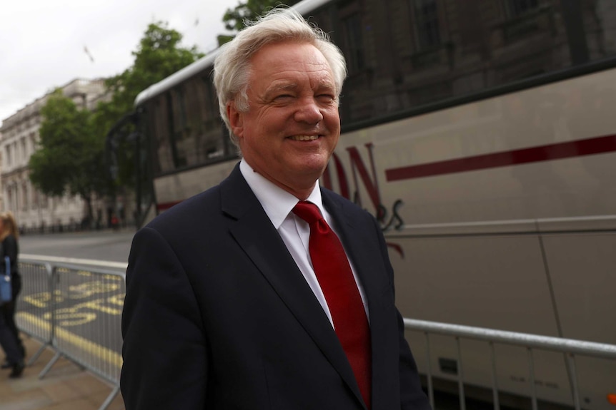
[[[372,409],[428,410],[374,218],[322,189],[365,289]],[[317,298],[239,167],[136,233],[122,317],[126,410],[365,409]]]

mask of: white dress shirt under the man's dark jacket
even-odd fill
[[[314,270],[312,269],[312,261],[310,260],[310,253],[308,250],[310,227],[306,221],[302,220],[301,217],[298,217],[292,212],[293,207],[297,205],[299,200],[294,195],[288,193],[282,188],[279,188],[277,185],[274,185],[274,183],[267,180],[267,178],[264,178],[262,175],[254,171],[252,167],[243,159],[242,162],[239,163],[239,170],[242,172],[244,179],[252,189],[254,195],[257,196],[257,199],[259,200],[259,203],[261,203],[265,213],[269,217],[269,220],[272,221],[272,225],[274,225],[280,234],[280,237],[282,237],[284,244],[287,245],[287,249],[291,253],[295,263],[297,263],[297,267],[299,267],[302,275],[304,275],[304,279],[308,283],[310,289],[312,289],[314,296],[317,297],[317,300],[323,307],[323,310],[325,314],[327,314],[329,322],[333,327],[334,323],[332,322],[332,314],[329,313],[329,307],[327,307],[327,301],[325,300],[325,296],[319,285],[319,281],[317,280],[317,275],[314,274]],[[329,227],[336,232],[336,227],[333,223],[334,221],[332,220],[332,217],[323,207],[318,180],[314,183],[314,188],[316,189],[312,190],[312,193],[307,200],[319,207],[319,210],[321,211]],[[338,235],[337,232],[336,235]],[[369,320],[364,289],[359,280],[357,280],[357,273],[355,272],[353,263],[350,259],[349,265],[351,265],[353,277],[355,278],[355,283],[357,283],[359,294],[362,296],[366,316]]]

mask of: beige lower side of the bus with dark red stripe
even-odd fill
[[[603,71],[342,136],[322,182],[381,222],[405,317],[616,344],[615,84]],[[424,335],[409,340],[425,371]],[[454,341],[432,342],[455,380]],[[491,386],[486,357],[462,342],[467,383]],[[540,398],[572,404],[562,354],[533,358]],[[613,363],[577,363],[582,405],[610,409]],[[524,349],[497,347],[497,372],[530,396]]]

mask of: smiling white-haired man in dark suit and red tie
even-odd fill
[[[242,161],[134,237],[126,409],[428,410],[377,222],[318,185],[342,54],[275,9],[214,70]]]

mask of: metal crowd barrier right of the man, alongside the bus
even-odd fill
[[[465,400],[465,379],[462,366],[462,347],[460,339],[472,339],[486,342],[490,351],[492,376],[492,403],[495,410],[500,409],[499,390],[497,384],[495,344],[506,344],[510,346],[522,347],[527,350],[528,364],[528,383],[531,392],[532,409],[537,410],[537,390],[535,380],[535,362],[533,352],[535,350],[557,352],[565,354],[567,358],[567,371],[570,373],[570,384],[572,390],[572,404],[575,410],[582,409],[580,406],[580,389],[578,387],[578,374],[576,367],[576,357],[596,357],[599,359],[616,360],[616,345],[602,344],[595,342],[584,342],[574,339],[562,339],[559,337],[539,336],[519,332],[505,332],[495,329],[484,329],[480,327],[462,326],[457,324],[447,324],[439,322],[427,322],[424,320],[404,319],[404,328],[409,331],[421,332],[426,341],[426,363],[427,363],[427,389],[430,405],[434,409],[434,389],[432,386],[433,371],[430,364],[430,335],[444,335],[453,337],[457,347],[457,384],[459,409],[466,409]],[[615,363],[616,365],[616,363]]]

